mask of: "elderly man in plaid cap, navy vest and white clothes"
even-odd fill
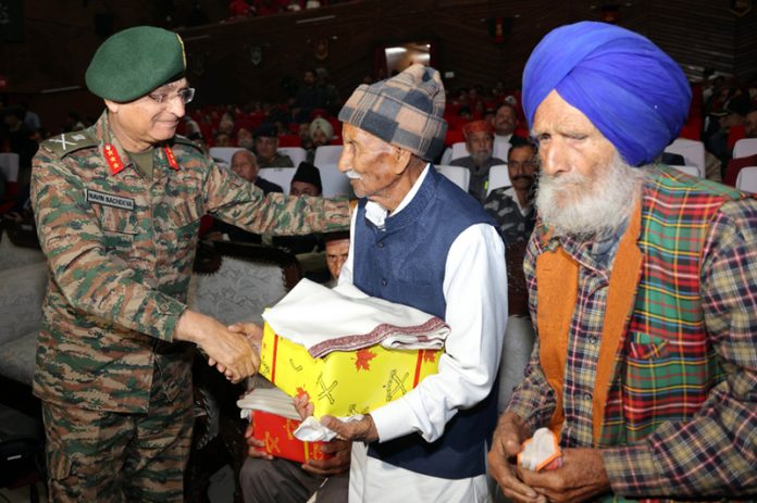
[[[339,112],[339,169],[360,198],[339,282],[446,320],[439,372],[347,423],[351,502],[487,501],[486,440],[507,319],[505,250],[483,208],[429,162],[446,124],[438,73],[412,65],[362,85]]]

